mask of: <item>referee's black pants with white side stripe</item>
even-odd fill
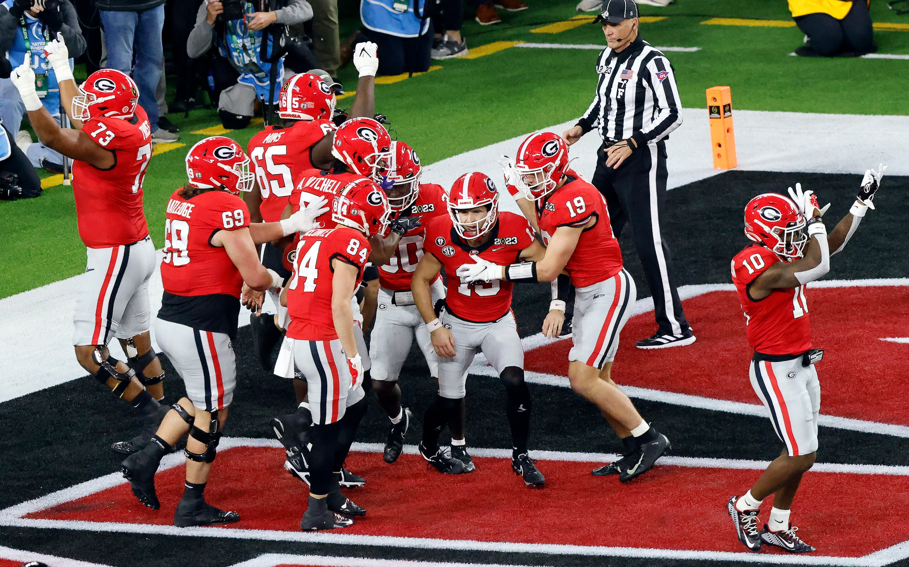
[[[618,238],[631,224],[634,247],[654,297],[660,334],[681,334],[688,329],[682,302],[675,291],[672,254],[660,231],[660,213],[666,197],[666,144],[647,144],[618,169],[606,167],[605,144],[596,158],[592,183],[609,208],[613,233]]]

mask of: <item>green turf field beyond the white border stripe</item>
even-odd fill
[[[463,34],[475,50],[500,41],[604,44],[598,25],[584,24],[557,34],[532,33],[543,25],[574,17],[574,1],[528,0],[531,9],[503,13],[503,23],[481,27],[465,22]],[[541,7],[542,6],[542,7]],[[874,0],[877,23],[909,25],[881,0]],[[667,8],[641,6],[641,15],[664,15],[642,24],[653,45],[701,47],[695,53],[668,54],[686,107],[704,106],[704,89],[732,87],[738,109],[809,113],[909,114],[909,61],[803,59],[788,56],[802,45],[795,27],[704,25],[711,18],[789,20],[782,0],[678,0]],[[355,13],[342,14],[342,37],[359,25]],[[879,53],[909,54],[909,29],[876,31]],[[376,86],[376,109],[388,115],[400,139],[431,164],[445,157],[494,144],[534,128],[581,114],[596,82],[593,50],[509,48],[474,59],[449,59],[443,68],[391,85]],[[341,71],[354,90],[354,65]],[[344,107],[353,101],[339,101]],[[170,114],[185,147],[153,157],[145,176],[145,213],[155,245],[164,240],[165,201],[185,182],[184,155],[217,123],[215,111]],[[230,135],[245,144],[260,126]],[[854,133],[844,135],[853,136]],[[0,298],[79,274],[85,247],[75,223],[72,191],[49,188],[40,198],[0,203]]]

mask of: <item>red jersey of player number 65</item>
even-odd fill
[[[301,120],[287,127],[266,126],[246,144],[262,194],[259,212],[265,223],[280,220],[296,184],[315,167],[310,148],[334,131],[331,120]]]

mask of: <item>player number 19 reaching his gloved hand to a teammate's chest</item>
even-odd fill
[[[619,333],[631,316],[636,290],[622,267],[622,250],[596,188],[568,169],[568,145],[557,134],[531,134],[506,174],[536,203],[545,250],[528,261],[497,264],[482,257],[458,268],[465,282],[552,282],[566,272],[575,288],[573,346],[568,380],[574,392],[596,404],[626,454],[594,475],[618,474],[628,482],[650,470],[669,449],[669,440],[646,423],[615,385],[610,372]],[[555,336],[564,322],[564,300],[554,299],[543,332]]]

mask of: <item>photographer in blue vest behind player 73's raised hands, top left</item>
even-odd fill
[[[35,90],[47,112],[59,122],[60,89],[54,69],[45,57],[45,43],[60,34],[71,55],[82,55],[85,39],[79,29],[75,8],[69,0],[5,0],[3,6],[0,8],[0,54],[8,52],[9,63],[14,67],[22,65],[26,56],[29,58],[35,70]],[[19,132],[24,115],[25,104],[19,92],[8,78],[0,79],[0,118],[16,144],[33,166],[62,172],[62,155],[43,144],[32,144],[27,133]]]

